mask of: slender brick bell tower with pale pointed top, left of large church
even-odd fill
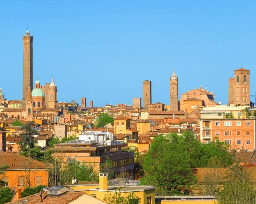
[[[178,77],[173,71],[170,77],[170,111],[178,111],[179,99],[178,99]]]

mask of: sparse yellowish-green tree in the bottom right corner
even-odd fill
[[[254,172],[248,171],[239,164],[227,170],[223,190],[217,193],[219,204],[256,204],[255,186],[249,176]]]

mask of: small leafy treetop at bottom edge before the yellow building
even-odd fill
[[[140,201],[140,198],[134,194],[134,192],[130,193],[127,197],[121,195],[121,188],[119,190],[115,190],[113,195],[106,194],[103,199],[104,202],[108,204],[137,204]]]

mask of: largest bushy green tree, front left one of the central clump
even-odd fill
[[[146,153],[143,164],[146,176],[141,179],[141,184],[155,185],[156,194],[163,190],[170,194],[184,190],[196,180],[189,162],[183,137],[175,133],[158,135]]]

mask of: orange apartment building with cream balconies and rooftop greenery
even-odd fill
[[[216,106],[201,111],[200,139],[203,143],[219,140],[230,149],[255,150],[256,119],[247,116],[250,107]]]

